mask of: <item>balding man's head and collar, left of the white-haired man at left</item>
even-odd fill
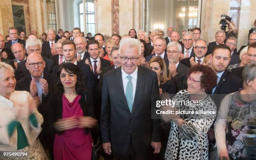
[[[26,49],[21,43],[14,43],[11,46],[11,49],[12,49],[13,55],[15,56],[15,59],[13,59],[13,62],[14,62],[15,68],[17,69],[18,63],[26,59],[26,55],[25,55]]]

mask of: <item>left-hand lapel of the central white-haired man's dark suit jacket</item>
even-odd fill
[[[125,93],[124,93],[124,90],[123,90],[123,79],[122,79],[121,67],[119,67],[118,71],[116,72],[115,81],[116,81],[117,88],[119,88],[119,91],[120,91],[118,94],[120,95],[124,106],[126,107],[126,109],[128,109],[128,112],[130,112],[130,109],[129,109],[128,104],[126,102]]]

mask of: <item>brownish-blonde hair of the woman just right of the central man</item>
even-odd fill
[[[167,77],[167,69],[166,69],[166,64],[163,58],[161,57],[153,57],[150,59],[148,62],[148,67],[150,66],[150,63],[157,62],[161,68],[161,75],[160,75],[160,80],[162,81],[161,84],[165,84],[168,80],[170,80]]]

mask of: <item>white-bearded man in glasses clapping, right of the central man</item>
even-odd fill
[[[166,63],[167,76],[174,80],[176,92],[187,89],[187,72],[189,68],[179,62],[182,54],[182,46],[178,42],[171,42],[167,45],[167,57],[169,63]]]

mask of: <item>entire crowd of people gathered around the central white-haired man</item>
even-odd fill
[[[0,150],[28,155],[0,159],[247,160],[256,33],[238,50],[228,26],[208,45],[200,28],[169,27],[164,38],[135,29],[85,37],[80,28],[26,37],[10,27],[0,34]],[[160,99],[202,102],[173,111],[216,114],[157,116]]]

